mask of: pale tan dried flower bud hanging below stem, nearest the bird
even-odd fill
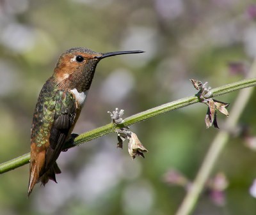
[[[131,132],[131,137],[129,137],[128,152],[132,159],[136,158],[136,156],[145,158],[143,152],[148,152],[147,149],[141,144],[137,135],[133,132]]]

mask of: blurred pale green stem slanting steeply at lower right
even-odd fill
[[[248,72],[247,78],[255,77],[255,76],[256,76],[256,61],[254,61],[252,68]],[[232,85],[237,85],[237,84],[234,83]],[[223,87],[218,87],[216,89],[218,90],[219,93],[223,89],[227,89],[228,92],[232,91],[232,88],[229,88],[228,85],[225,85]],[[220,131],[212,141],[211,147],[209,148],[209,151],[205,156],[202,166],[198,170],[195,180],[189,187],[189,191],[185,196],[182,204],[180,205],[176,215],[188,215],[188,214],[191,214],[191,212],[193,212],[193,209],[195,208],[198,197],[200,193],[202,193],[202,190],[204,189],[207,179],[209,179],[209,175],[212,172],[212,168],[214,167],[216,161],[218,161],[221,151],[223,150],[225,145],[227,145],[228,139],[230,137],[230,133],[228,133],[228,131],[232,130],[232,128],[235,128],[237,121],[241,116],[241,114],[243,113],[243,110],[246,107],[246,104],[248,103],[252,93],[253,93],[253,88],[246,89],[246,90],[243,89],[242,91],[239,92],[236,98],[236,101],[234,102],[234,105],[232,105],[232,110],[230,110],[230,117],[228,117],[227,121],[225,122],[224,127],[226,129]]]

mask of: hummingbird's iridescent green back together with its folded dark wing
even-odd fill
[[[50,144],[45,154],[46,165],[42,174],[51,168],[60,155],[75,117],[76,101],[72,93],[61,91],[54,77],[49,78],[38,97],[31,128],[31,143],[39,148],[47,142]]]

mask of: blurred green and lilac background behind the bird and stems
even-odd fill
[[[256,56],[255,17],[248,0],[0,1],[0,163],[29,151],[38,94],[68,48],[145,50],[97,66],[74,130],[83,133],[108,124],[116,107],[127,117],[195,94],[189,78],[211,87],[243,79]],[[236,95],[217,99],[232,107]],[[234,131],[212,172],[227,178],[223,199],[216,204],[205,191],[194,214],[256,214],[256,154],[246,147],[256,135],[255,105],[254,94],[237,126],[247,138]],[[166,174],[195,177],[219,132],[205,128],[206,110],[196,104],[131,126],[145,159],[132,161],[127,145],[116,149],[114,134],[63,152],[58,184],[37,184],[29,198],[28,165],[0,175],[0,214],[174,214],[186,191]],[[219,114],[220,129],[224,120]]]

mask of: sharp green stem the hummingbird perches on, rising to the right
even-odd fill
[[[252,78],[248,80],[241,80],[233,84],[224,85],[222,87],[217,87],[212,89],[211,91],[212,91],[213,97],[216,97],[216,96],[230,93],[232,91],[237,91],[239,89],[243,89],[246,87],[253,87],[255,85],[256,85],[256,78]],[[88,142],[98,137],[102,137],[103,135],[106,135],[108,133],[115,131],[116,128],[121,128],[123,126],[130,126],[131,124],[144,121],[145,119],[148,119],[150,117],[154,117],[159,114],[164,114],[166,112],[169,112],[170,110],[186,107],[188,105],[192,105],[198,102],[200,102],[198,97],[189,96],[186,98],[182,98],[180,100],[172,101],[170,103],[166,103],[164,105],[160,105],[158,107],[145,110],[144,112],[140,112],[139,114],[135,114],[135,115],[132,115],[131,117],[127,117],[124,120],[124,123],[118,126],[116,126],[113,123],[109,123],[100,128],[96,128],[95,130],[83,133],[78,137],[76,137],[72,144],[70,143],[65,144],[65,147],[63,149],[70,149],[71,147],[74,147],[76,145],[82,144],[84,142]],[[0,164],[0,174],[3,174],[4,172],[8,172],[10,170],[13,170],[15,168],[21,167],[22,165],[29,163],[29,158],[30,158],[29,153],[27,153],[18,158],[14,158],[10,161],[6,161],[5,163]]]

